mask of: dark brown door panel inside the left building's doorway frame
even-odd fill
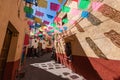
[[[3,47],[2,47],[2,51],[0,54],[0,80],[2,80],[2,77],[3,77],[3,73],[4,73],[4,69],[5,69],[5,65],[6,65],[6,61],[7,61],[7,57],[8,57],[9,47],[10,47],[10,43],[11,43],[12,34],[13,34],[12,31],[7,29],[4,43],[3,43]]]

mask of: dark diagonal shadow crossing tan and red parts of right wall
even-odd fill
[[[80,55],[82,55],[72,55],[72,70],[75,73],[84,76],[87,80],[102,80],[97,71],[91,65],[91,62],[89,61],[88,57],[86,57],[86,53],[82,49],[78,39],[76,38],[75,41],[72,42],[72,44],[72,47],[77,47],[73,50],[79,51]]]

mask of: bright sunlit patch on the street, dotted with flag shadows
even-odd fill
[[[68,80],[85,80],[82,76],[73,73],[70,69],[66,68],[64,65],[55,63],[54,61],[48,61],[43,63],[34,63],[31,66],[43,69],[54,75],[66,78]]]

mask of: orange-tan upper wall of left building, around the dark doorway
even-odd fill
[[[24,3],[21,0],[0,0],[0,54],[5,38],[8,22],[10,22],[19,32],[18,41],[12,38],[12,46],[8,54],[7,62],[12,62],[20,59],[24,35],[28,32],[27,19],[24,14]],[[18,9],[20,9],[20,17],[18,18]],[[16,45],[16,46],[15,46]]]

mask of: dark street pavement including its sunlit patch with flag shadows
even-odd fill
[[[17,80],[85,80],[64,65],[55,63],[50,56],[44,54],[39,58],[27,58],[25,76]]]

